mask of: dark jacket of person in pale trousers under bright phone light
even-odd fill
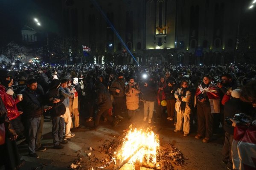
[[[148,102],[154,102],[156,100],[157,85],[153,81],[148,81],[148,86],[141,85],[140,91],[143,99]]]

